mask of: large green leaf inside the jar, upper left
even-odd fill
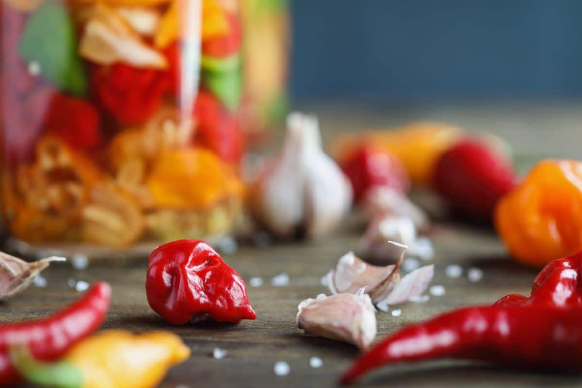
[[[77,54],[77,38],[67,9],[45,1],[31,16],[19,41],[20,55],[40,65],[41,74],[71,94],[87,94],[87,77]]]

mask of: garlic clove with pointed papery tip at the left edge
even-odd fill
[[[66,261],[66,258],[53,256],[38,261],[26,262],[0,252],[0,300],[25,290],[30,286],[34,277],[53,261]]]

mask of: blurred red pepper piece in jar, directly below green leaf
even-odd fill
[[[47,111],[45,126],[75,149],[91,149],[101,140],[97,109],[83,99],[56,93]]]

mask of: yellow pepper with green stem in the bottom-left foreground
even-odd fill
[[[29,382],[58,388],[150,388],[168,369],[190,357],[180,337],[168,332],[132,334],[106,330],[74,346],[55,364],[13,348],[12,362]]]

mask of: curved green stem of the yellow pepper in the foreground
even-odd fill
[[[68,361],[43,362],[35,359],[25,346],[10,347],[10,360],[27,381],[42,387],[81,388],[83,375]]]

